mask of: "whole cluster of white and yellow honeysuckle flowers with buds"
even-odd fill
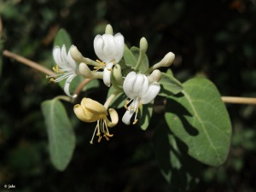
[[[84,57],[77,47],[72,45],[67,52],[66,46],[56,46],[53,49],[53,57],[56,67],[53,68],[56,75],[50,77],[50,81],[60,82],[66,79],[64,84],[64,91],[67,96],[76,97],[76,94],[71,94],[69,86],[72,80],[77,75],[82,75],[85,79],[102,79],[103,83],[108,87],[113,86],[116,90],[110,95],[107,101],[102,105],[90,98],[83,98],[80,104],[73,107],[76,116],[84,122],[96,122],[96,129],[93,133],[90,143],[93,143],[95,135],[98,137],[98,142],[105,137],[113,137],[110,134],[108,127],[113,127],[118,124],[119,115],[113,108],[108,108],[109,104],[119,94],[124,93],[127,97],[124,107],[126,109],[122,121],[125,125],[137,123],[137,113],[140,108],[154,101],[154,98],[160,92],[160,78],[161,73],[159,67],[169,67],[174,60],[172,52],[152,67],[147,70],[141,70],[143,59],[146,56],[148,43],[146,38],[142,38],[139,47],[139,56],[137,63],[128,63],[125,61],[125,38],[121,33],[113,35],[112,26],[108,25],[105,34],[96,35],[93,42],[96,60]],[[126,75],[123,75],[122,65],[119,62],[125,63]],[[129,72],[127,73],[127,68]],[[108,119],[108,113],[110,119]],[[133,120],[132,117],[134,117]]]

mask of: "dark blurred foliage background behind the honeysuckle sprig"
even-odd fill
[[[83,53],[96,58],[95,35],[107,23],[122,32],[126,44],[148,39],[148,60],[172,51],[172,71],[182,82],[195,74],[211,79],[222,95],[256,96],[256,2],[254,0],[1,0],[0,50],[9,49],[51,67],[53,38],[63,27]],[[154,159],[151,127],[119,125],[110,143],[90,145],[94,125],[76,125],[76,149],[64,172],[49,162],[48,138],[40,103],[61,95],[45,75],[0,55],[0,190],[15,191],[170,191]],[[152,65],[153,63],[149,63]],[[105,88],[89,91],[102,96]],[[103,101],[105,96],[99,97]],[[232,145],[223,166],[205,166],[195,191],[256,189],[256,110],[227,105]],[[120,113],[124,109],[119,109]],[[86,127],[85,127],[86,126]]]

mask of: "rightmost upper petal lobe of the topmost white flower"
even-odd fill
[[[113,40],[115,43],[115,55],[113,59],[115,60],[116,63],[118,63],[124,55],[125,39],[121,33],[117,33],[113,36]]]

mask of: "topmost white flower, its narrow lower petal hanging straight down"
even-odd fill
[[[93,44],[96,55],[102,61],[98,61],[101,67],[96,67],[96,69],[103,68],[103,82],[109,87],[112,67],[124,55],[124,36],[121,33],[114,36],[111,34],[97,35]]]

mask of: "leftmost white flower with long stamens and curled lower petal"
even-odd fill
[[[73,47],[73,45],[71,46]],[[50,76],[50,81],[60,82],[63,79],[67,79],[64,84],[64,92],[67,96],[72,96],[69,92],[69,86],[72,80],[78,75],[78,70],[76,66],[76,62],[73,60],[72,56],[70,55],[70,49],[66,50],[65,44],[62,45],[60,48],[59,46],[55,46],[53,49],[53,57],[56,63],[56,67],[53,67],[55,76]],[[57,79],[53,79],[56,76],[60,76]],[[76,97],[77,95],[73,95],[72,97]]]

